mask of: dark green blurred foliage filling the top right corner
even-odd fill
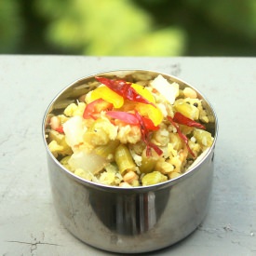
[[[256,56],[255,0],[134,0],[161,26],[186,33],[185,55]]]

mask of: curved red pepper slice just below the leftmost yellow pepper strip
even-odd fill
[[[109,109],[113,109],[113,104],[108,101],[104,101],[102,99],[91,101],[86,106],[83,117],[85,119],[88,119],[88,118],[97,119],[97,115],[101,113],[101,111],[109,110]]]

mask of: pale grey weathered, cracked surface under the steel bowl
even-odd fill
[[[113,69],[173,74],[219,119],[209,214],[182,242],[147,255],[256,255],[256,58],[0,55],[0,255],[112,255],[80,242],[52,205],[42,120],[77,78]]]

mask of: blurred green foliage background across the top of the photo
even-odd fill
[[[256,0],[0,0],[0,53],[256,56]]]

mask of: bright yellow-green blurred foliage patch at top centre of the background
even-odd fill
[[[38,10],[53,19],[54,4],[47,6],[48,11],[46,4],[39,2]],[[49,42],[65,50],[101,56],[169,56],[184,51],[182,29],[154,30],[150,15],[128,0],[74,0],[66,5],[47,30]]]

